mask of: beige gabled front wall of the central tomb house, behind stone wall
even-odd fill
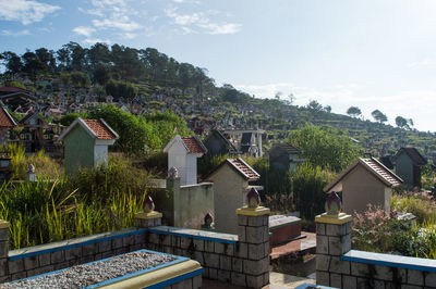
[[[238,218],[234,214],[245,202],[249,183],[228,165],[223,165],[210,178],[214,181],[215,229],[237,234]]]

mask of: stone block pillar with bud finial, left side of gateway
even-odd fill
[[[252,189],[252,191],[255,189]],[[247,194],[247,206],[237,210],[237,255],[246,252],[241,260],[242,273],[231,274],[232,284],[250,288],[262,288],[269,284],[269,209],[255,206]],[[257,193],[257,191],[256,191]],[[258,196],[258,193],[257,193]],[[258,203],[257,203],[258,205]],[[239,253],[238,253],[239,252]]]

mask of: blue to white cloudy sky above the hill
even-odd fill
[[[153,47],[217,85],[436,131],[435,0],[0,0],[0,52]]]

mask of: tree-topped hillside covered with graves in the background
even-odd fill
[[[374,155],[413,146],[436,158],[435,134],[330,113],[316,101],[295,106],[286,100],[253,98],[228,84],[218,87],[206,68],[179,63],[153,48],[96,43],[87,49],[70,42],[56,52],[5,51],[1,58],[5,73],[0,86],[24,88],[61,114],[80,112],[88,103],[113,102],[133,114],[172,111],[198,135],[211,127],[262,128],[275,141],[306,122],[343,129],[339,134],[348,131]]]

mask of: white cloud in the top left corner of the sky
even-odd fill
[[[61,9],[38,1],[29,0],[0,0],[0,20],[17,21],[23,25],[40,22],[48,14]]]

